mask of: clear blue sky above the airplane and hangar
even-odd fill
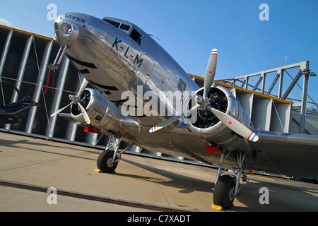
[[[73,11],[136,23],[197,76],[204,76],[213,48],[218,49],[216,79],[283,66],[285,57],[287,64],[310,61],[318,73],[317,0],[0,0],[0,23],[52,37],[49,4],[57,6],[57,15]],[[269,6],[269,20],[259,20],[261,4]],[[317,85],[318,77],[310,78],[309,94],[316,102]]]

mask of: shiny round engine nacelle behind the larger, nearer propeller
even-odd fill
[[[192,98],[195,98],[196,95],[203,95],[203,92],[204,88],[199,89]],[[244,109],[230,90],[221,85],[213,85],[208,97],[210,97],[209,102],[213,108],[225,112],[252,129],[252,121],[247,117]],[[189,109],[193,102],[189,101]],[[202,109],[196,113],[196,122],[187,124],[192,133],[203,138],[207,143],[211,143],[211,145],[218,144],[216,146],[220,149],[235,150],[240,148],[247,153],[249,152],[248,141],[230,130],[214,114]]]

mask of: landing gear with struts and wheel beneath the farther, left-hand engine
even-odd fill
[[[113,141],[114,140],[114,141]],[[122,143],[122,136],[119,133],[112,133],[110,140],[107,143],[106,149],[98,155],[97,167],[102,172],[112,173],[116,169],[118,162],[122,157],[122,153],[131,148],[133,144],[124,150],[119,150],[119,145]],[[114,150],[110,150],[112,148]]]

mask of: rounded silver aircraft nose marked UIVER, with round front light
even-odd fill
[[[54,30],[59,38],[74,41],[78,38],[81,28],[86,28],[90,16],[83,13],[63,13],[54,21]]]

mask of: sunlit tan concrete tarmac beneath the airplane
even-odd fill
[[[104,174],[95,172],[101,151],[0,132],[0,180],[187,211],[218,212],[211,208],[216,169],[123,154],[116,172]],[[248,178],[252,189],[242,182],[241,194],[230,211],[318,211],[317,184]],[[151,211],[61,195],[57,204],[49,204],[49,195],[0,186],[0,211]]]

